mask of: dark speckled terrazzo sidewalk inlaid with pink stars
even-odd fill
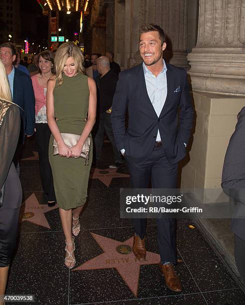
[[[20,234],[6,293],[34,295],[34,303],[25,303],[30,305],[245,305],[239,284],[199,230],[189,228],[193,223],[188,219],[177,222],[175,271],[181,293],[168,290],[158,270],[154,220],[147,225],[148,261],[135,262],[130,253],[133,228],[129,219],[120,219],[119,209],[120,187],[129,187],[128,171],[126,165],[111,170],[111,163],[106,143],[100,168],[90,176],[81,232],[75,237],[76,266],[69,270],[58,208],[48,209],[43,201],[35,142],[28,140],[20,162]]]

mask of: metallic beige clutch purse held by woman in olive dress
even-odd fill
[[[68,134],[68,133],[60,133],[61,137],[64,141],[64,143],[69,147],[72,148],[74,145],[78,143],[78,140],[80,139],[81,135],[76,135],[76,134]],[[87,140],[85,141],[82,152],[80,154],[80,157],[85,158],[85,164],[84,165],[89,165],[89,151],[90,151],[90,143],[91,143],[91,137],[88,137]],[[58,151],[58,144],[56,140],[54,139],[53,143],[53,155],[59,154]]]

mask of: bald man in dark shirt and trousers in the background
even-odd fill
[[[118,75],[110,68],[110,60],[106,56],[97,59],[97,70],[100,76],[95,79],[98,91],[99,127],[95,136],[96,161],[99,162],[106,132],[113,148],[115,163],[110,168],[117,168],[124,163],[118,151],[112,130],[111,112]],[[98,118],[98,117],[97,117]]]

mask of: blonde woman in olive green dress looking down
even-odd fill
[[[73,42],[63,43],[55,54],[56,78],[47,85],[47,120],[52,132],[49,161],[53,172],[54,189],[66,239],[65,265],[73,268],[75,244],[73,235],[80,231],[79,216],[87,198],[89,165],[80,157],[96,118],[96,85],[84,74],[83,54]],[[60,133],[81,135],[77,144],[69,148]],[[53,141],[58,144],[58,155],[53,155]]]

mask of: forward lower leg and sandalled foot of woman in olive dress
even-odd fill
[[[65,234],[65,239],[67,243],[67,250],[72,253],[73,250],[73,238],[72,238],[72,209],[63,210],[59,208],[60,219],[62,223],[62,228]],[[75,259],[74,253],[72,253],[72,258]],[[68,268],[71,268],[73,265],[72,262],[65,263]]]

